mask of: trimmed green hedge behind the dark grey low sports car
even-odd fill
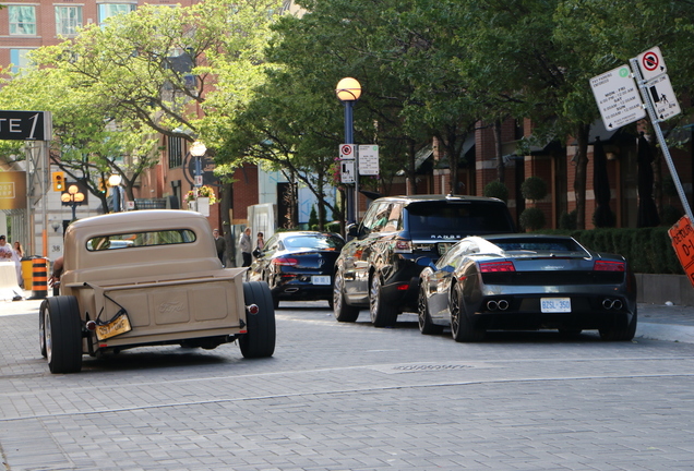
[[[639,229],[591,229],[591,230],[539,230],[535,233],[565,234],[596,252],[623,255],[635,273],[678,274],[682,266],[678,261],[667,227]]]

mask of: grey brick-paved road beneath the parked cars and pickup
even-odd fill
[[[272,359],[142,348],[74,375],[48,373],[36,312],[0,316],[5,469],[694,469],[692,343],[462,345],[282,306]]]

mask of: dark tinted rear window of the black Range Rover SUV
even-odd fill
[[[466,235],[513,232],[503,204],[482,202],[427,202],[407,206],[410,237]]]

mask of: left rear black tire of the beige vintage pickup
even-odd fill
[[[82,370],[82,321],[75,297],[59,295],[41,303],[43,346],[51,373]],[[40,335],[39,335],[40,337]]]

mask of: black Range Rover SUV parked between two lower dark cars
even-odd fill
[[[496,198],[457,195],[388,196],[375,200],[335,263],[333,310],[355,322],[369,307],[376,327],[402,312],[417,312],[417,258],[434,263],[467,235],[515,232],[506,205]]]

